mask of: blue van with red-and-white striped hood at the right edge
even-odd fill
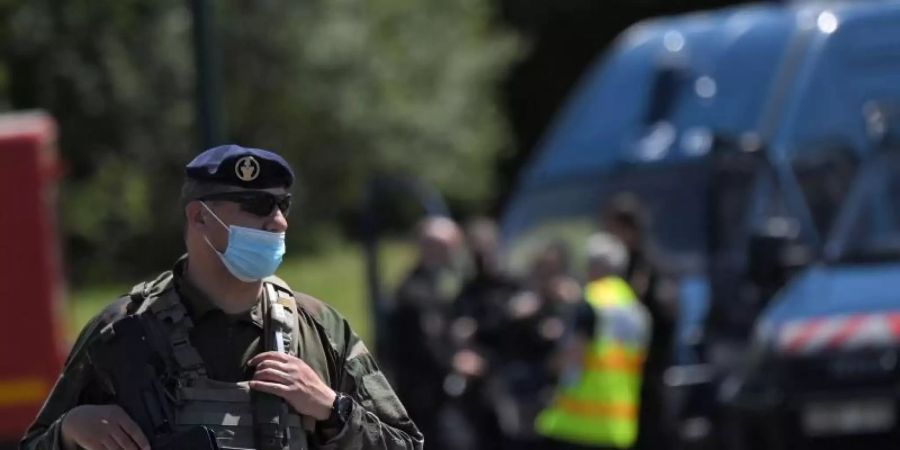
[[[866,158],[822,257],[761,314],[723,383],[735,449],[895,448],[900,381],[900,125],[872,106]]]

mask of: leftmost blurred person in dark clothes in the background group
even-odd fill
[[[451,370],[450,309],[464,276],[462,231],[446,217],[417,226],[418,259],[394,296],[388,315],[387,349],[393,384],[410,417],[429,439],[428,448],[448,447],[442,432],[444,380]]]

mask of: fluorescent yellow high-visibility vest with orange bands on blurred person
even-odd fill
[[[628,448],[637,438],[649,314],[620,278],[589,283],[585,293],[597,317],[593,342],[575,379],[538,415],[536,429],[563,442]]]

